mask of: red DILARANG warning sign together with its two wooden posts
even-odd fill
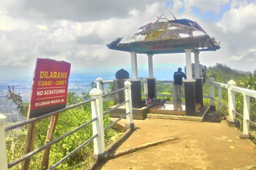
[[[33,75],[28,119],[42,116],[66,107],[70,66],[71,64],[65,61],[55,61],[48,58],[37,59]],[[53,139],[57,120],[58,114],[52,116],[48,127],[46,143]],[[34,133],[35,122],[28,125],[27,142],[24,154],[32,151]],[[49,149],[50,147],[46,149],[48,150],[48,157]],[[43,160],[44,159],[45,158],[43,157]],[[27,170],[29,168],[29,162],[30,159],[24,160],[21,169]]]

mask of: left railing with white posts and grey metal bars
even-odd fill
[[[108,83],[110,83],[110,81]],[[125,87],[124,88],[119,89],[119,90],[115,90],[113,92],[110,92],[110,93],[104,94],[104,95],[102,95],[101,90],[94,88],[89,93],[90,98],[91,98],[89,100],[86,100],[86,101],[68,106],[66,108],[48,113],[48,114],[40,116],[40,117],[24,120],[24,121],[21,121],[21,122],[18,122],[18,123],[9,125],[9,126],[5,126],[6,117],[0,114],[0,148],[1,148],[0,149],[0,164],[1,164],[1,169],[7,170],[8,168],[11,168],[11,167],[17,165],[18,163],[29,159],[31,156],[33,156],[33,155],[39,153],[40,151],[52,146],[53,144],[59,142],[60,140],[62,140],[63,138],[66,138],[67,136],[73,134],[74,132],[84,128],[86,125],[88,125],[90,123],[93,123],[93,136],[90,139],[88,139],[87,141],[85,141],[82,145],[77,147],[75,150],[70,152],[68,155],[63,157],[61,160],[59,160],[56,164],[54,164],[49,169],[54,169],[57,166],[59,166],[62,162],[67,160],[70,156],[72,156],[75,152],[77,152],[78,150],[83,148],[87,143],[89,143],[92,140],[94,140],[94,155],[96,156],[95,158],[100,158],[100,157],[104,156],[106,154],[105,153],[105,143],[104,143],[104,131],[109,129],[113,124],[118,122],[120,119],[116,120],[115,122],[111,123],[106,128],[104,128],[103,116],[106,115],[107,113],[109,113],[110,111],[106,111],[105,113],[103,113],[103,97],[111,95],[111,94],[119,92],[119,91],[123,91],[123,90],[125,91],[125,100],[126,101],[121,103],[120,105],[112,108],[111,111],[118,108],[122,104],[126,104],[126,114],[123,115],[120,119],[126,117],[126,122],[127,122],[126,128],[134,129],[134,125],[133,125],[133,122],[132,122],[131,83],[129,81],[125,82]],[[29,153],[24,154],[23,156],[21,156],[21,157],[15,159],[15,160],[13,160],[12,162],[8,163],[7,154],[6,154],[6,142],[5,142],[5,132],[6,131],[15,129],[17,127],[20,127],[20,126],[23,126],[23,125],[26,125],[26,124],[29,124],[29,123],[33,123],[35,121],[41,120],[41,119],[49,117],[49,116],[56,115],[58,113],[67,111],[69,109],[72,109],[72,108],[77,107],[77,106],[81,106],[81,105],[83,105],[85,103],[89,103],[89,102],[91,103],[91,114],[92,114],[92,119],[90,121],[80,125],[79,127],[75,128],[74,130],[72,130],[72,131],[70,131],[70,132],[52,140],[52,141],[47,142],[45,145],[43,145],[43,146],[41,146],[41,147],[39,147],[39,148],[37,148],[33,151],[29,151]],[[25,169],[27,169],[27,168],[25,168]],[[46,167],[46,168],[48,168],[48,167]]]

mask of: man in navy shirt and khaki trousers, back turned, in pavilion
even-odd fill
[[[182,102],[181,101],[181,84],[182,84],[182,78],[187,79],[187,76],[184,72],[181,72],[182,69],[178,68],[178,71],[175,71],[173,74],[173,92],[175,93],[176,102]],[[178,94],[179,92],[179,94]]]

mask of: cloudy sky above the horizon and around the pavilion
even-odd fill
[[[200,64],[256,69],[256,0],[0,0],[0,76],[31,74],[40,57],[67,61],[72,73],[130,71],[130,53],[106,44],[163,13],[173,19],[169,11],[221,41],[220,50],[200,52]],[[137,57],[147,71],[147,56]],[[157,54],[153,63],[168,71],[185,65],[185,53]]]

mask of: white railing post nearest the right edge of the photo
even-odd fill
[[[249,133],[250,123],[246,120],[250,120],[250,96],[244,95],[244,109],[243,109],[243,133],[240,134],[241,138],[251,138]]]

